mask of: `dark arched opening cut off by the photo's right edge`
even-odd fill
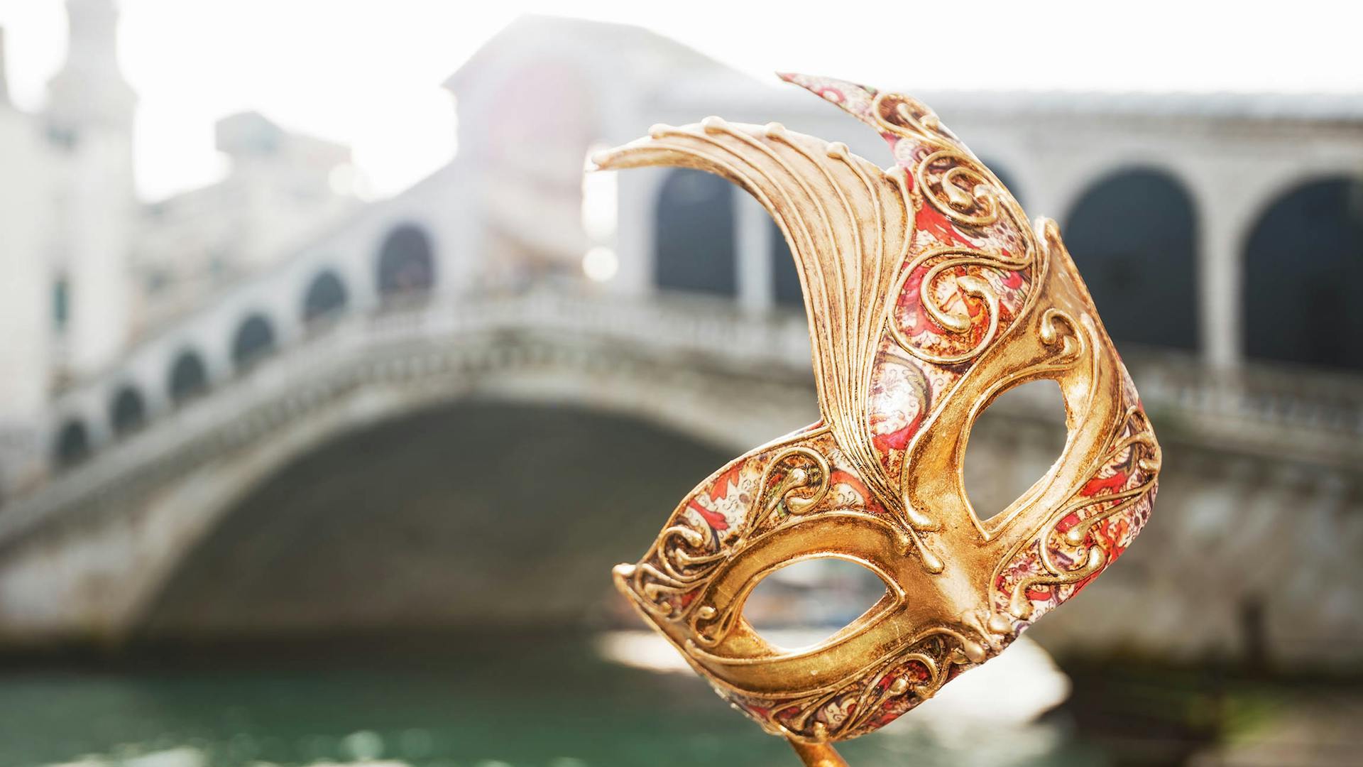
[[[1244,252],[1244,352],[1363,370],[1363,177],[1303,184],[1259,217]]]

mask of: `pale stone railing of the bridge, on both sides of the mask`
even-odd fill
[[[761,375],[808,377],[804,317],[754,315],[717,298],[647,299],[533,289],[478,296],[432,295],[342,315],[303,333],[248,371],[183,407],[162,411],[136,433],[97,446],[91,459],[55,475],[33,495],[60,506],[143,471],[164,456],[191,456],[213,439],[248,439],[271,408],[304,408],[345,379],[345,370],[413,343],[443,353],[487,353],[465,338],[489,334],[592,337],[641,355],[683,355],[701,366]],[[492,344],[496,348],[496,344]],[[1303,460],[1363,463],[1363,379],[1264,366],[1213,370],[1191,355],[1134,349],[1127,363],[1161,434],[1251,453],[1289,452]],[[398,363],[394,363],[398,364]],[[117,377],[117,371],[108,375]],[[87,381],[64,397],[89,397],[108,381]],[[57,403],[59,408],[61,401]],[[264,414],[264,415],[262,415]],[[164,463],[164,461],[162,461]],[[0,538],[34,504],[0,512]]]

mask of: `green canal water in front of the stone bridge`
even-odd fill
[[[497,639],[439,652],[237,652],[0,671],[0,766],[792,767],[690,674],[605,661],[589,640]],[[1062,712],[943,733],[912,715],[842,747],[856,767],[1103,766]]]

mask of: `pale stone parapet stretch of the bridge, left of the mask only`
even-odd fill
[[[695,386],[701,388],[717,373],[751,379],[755,386],[803,389],[808,386],[808,359],[803,317],[784,313],[755,319],[717,299],[639,302],[532,291],[388,303],[294,336],[203,397],[161,411],[159,418],[119,439],[117,449],[97,450],[55,475],[0,512],[0,545],[110,487],[154,484],[177,465],[204,461],[282,422],[305,418],[309,409],[365,379],[458,370],[469,374],[472,386],[480,374],[508,367],[568,371],[667,360],[675,373],[694,368]],[[59,408],[98,401],[117,379],[114,370],[72,388]],[[812,394],[808,399],[812,404]],[[668,419],[668,414],[657,415]],[[709,437],[728,441],[724,434]]]

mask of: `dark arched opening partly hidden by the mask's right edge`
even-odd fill
[[[1197,221],[1179,182],[1149,169],[1100,180],[1065,242],[1115,340],[1197,348]]]

